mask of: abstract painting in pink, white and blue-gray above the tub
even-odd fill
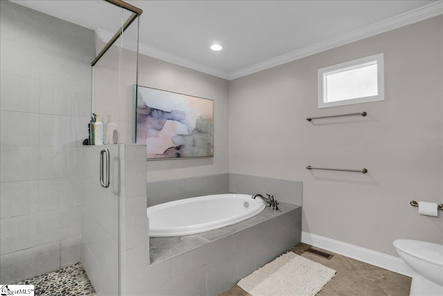
[[[214,156],[214,101],[136,87],[136,143],[147,159]]]

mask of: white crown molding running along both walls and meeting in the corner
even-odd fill
[[[379,21],[376,24],[365,26],[364,28],[351,31],[350,33],[339,35],[329,40],[318,42],[316,44],[306,46],[302,49],[291,51],[290,53],[280,55],[270,60],[265,60],[264,62],[253,64],[250,67],[239,69],[237,71],[233,71],[230,73],[226,71],[220,71],[212,67],[208,67],[204,64],[200,64],[198,62],[194,62],[186,58],[181,58],[178,55],[174,55],[172,53],[168,53],[166,51],[162,51],[160,49],[156,49],[152,46],[147,46],[141,43],[138,44],[138,52],[143,55],[148,55],[152,58],[163,60],[165,62],[170,62],[172,64],[178,64],[179,66],[194,69],[196,71],[200,71],[212,76],[217,76],[219,78],[223,78],[226,80],[233,80],[236,78],[240,78],[242,76],[263,71],[265,69],[280,66],[281,64],[293,62],[294,60],[306,58],[309,55],[314,55],[316,53],[327,51],[329,49],[334,49],[338,46],[356,42],[358,40],[362,40],[367,37],[391,31],[394,30],[395,28],[400,28],[402,26],[414,24],[417,23],[418,21],[424,21],[425,19],[430,19],[431,17],[435,17],[437,15],[442,15],[442,14],[443,14],[443,0],[435,1],[431,4],[422,6],[421,8],[417,8],[415,10],[411,10],[402,15],[391,17],[390,19],[386,19],[384,21]],[[109,40],[111,40],[111,37],[113,36],[113,34],[103,31],[101,29],[96,30],[96,35],[103,42],[108,42]],[[123,47],[125,49],[136,51],[136,42],[134,42],[133,40],[129,40],[127,38],[123,38]]]

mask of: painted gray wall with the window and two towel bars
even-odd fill
[[[442,25],[434,17],[231,81],[230,173],[302,181],[305,232],[394,256],[397,238],[443,243],[442,213],[409,204],[443,202]],[[382,52],[385,101],[318,110],[317,69]]]

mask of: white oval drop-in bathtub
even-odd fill
[[[246,194],[217,194],[165,202],[147,208],[150,236],[183,236],[239,223],[266,207]]]

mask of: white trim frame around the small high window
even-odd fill
[[[350,98],[343,101],[325,102],[324,90],[326,89],[327,74],[341,72],[343,70],[350,70],[352,68],[359,68],[362,64],[369,64],[377,62],[377,96],[365,96],[361,98]],[[351,60],[349,62],[342,62],[341,64],[334,64],[333,66],[318,69],[318,108],[336,107],[341,105],[351,105],[358,103],[368,103],[374,101],[383,101],[385,99],[385,79],[384,79],[384,55],[378,53],[377,55],[370,55],[365,58]]]

